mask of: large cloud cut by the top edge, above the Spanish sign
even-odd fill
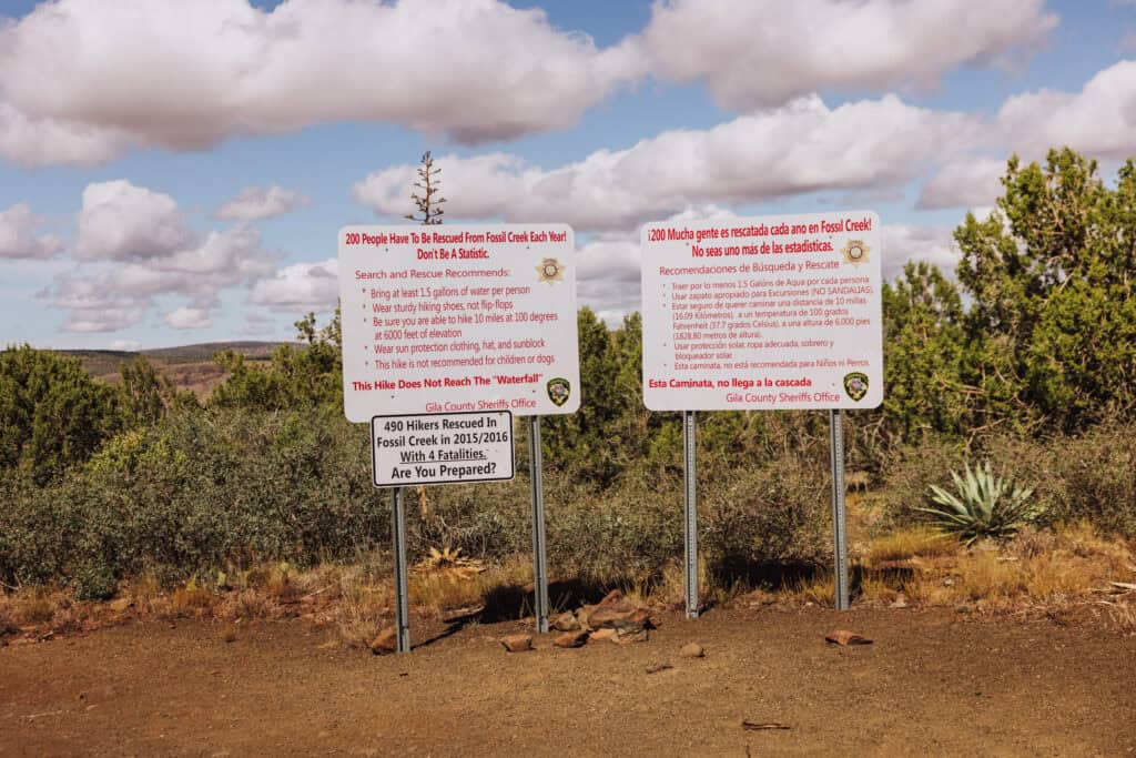
[[[816,91],[926,89],[959,66],[1028,53],[1056,23],[1044,0],[670,0],[627,47],[749,110]]]

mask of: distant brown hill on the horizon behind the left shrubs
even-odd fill
[[[118,384],[122,381],[119,366],[137,356],[144,357],[154,368],[170,381],[174,386],[192,390],[199,398],[208,397],[214,389],[225,381],[225,372],[212,361],[214,353],[222,350],[233,350],[249,361],[267,361],[273,351],[282,344],[302,348],[299,343],[287,342],[202,342],[176,348],[157,348],[153,350],[57,350],[65,356],[74,356],[83,363],[97,380]]]

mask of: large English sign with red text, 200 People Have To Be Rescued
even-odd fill
[[[574,251],[562,224],[340,230],[346,417],[574,413]]]

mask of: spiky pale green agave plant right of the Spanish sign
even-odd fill
[[[1001,476],[994,476],[986,461],[970,469],[966,476],[951,472],[954,492],[930,486],[932,501],[938,508],[916,508],[932,516],[932,523],[944,532],[955,534],[963,544],[971,545],[982,538],[1012,536],[1020,526],[1038,514],[1030,500],[1033,488],[1022,488]]]

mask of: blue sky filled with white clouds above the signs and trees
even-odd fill
[[[290,339],[336,231],[566,222],[637,308],[637,230],[868,207],[954,265],[1010,152],[1136,155],[1133,0],[0,2],[0,343]]]

